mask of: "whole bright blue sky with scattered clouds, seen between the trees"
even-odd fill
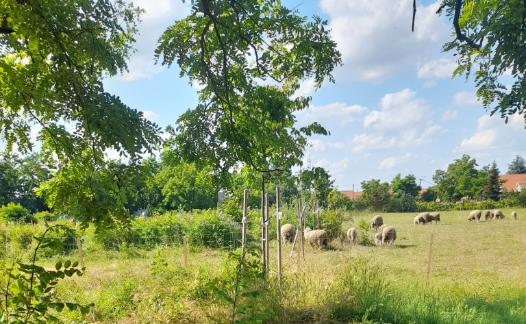
[[[186,16],[189,3],[180,0],[139,0],[144,8],[137,52],[129,73],[105,80],[105,90],[145,112],[162,127],[197,104],[197,88],[179,77],[177,66],[153,64],[160,34]],[[437,169],[468,154],[479,169],[497,162],[501,173],[515,155],[526,158],[524,119],[505,124],[489,116],[475,96],[473,80],[451,78],[453,52],[442,53],[452,29],[435,14],[436,1],[417,1],[411,32],[410,0],[287,0],[304,16],[317,14],[331,27],[343,66],[335,84],[314,91],[303,82],[300,94],[312,106],[297,114],[299,125],[318,121],[331,136],[310,138],[305,152],[311,166],[323,166],[340,190],[360,188],[364,180],[390,182],[398,173],[413,174],[422,186],[433,183]]]

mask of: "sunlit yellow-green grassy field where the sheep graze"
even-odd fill
[[[256,298],[240,323],[526,323],[526,210],[505,219],[469,223],[468,212],[442,212],[438,225],[413,225],[416,213],[381,214],[397,229],[394,247],[330,243],[305,246],[298,265],[283,247],[284,283],[277,282],[276,241],[268,280],[251,282]],[[344,229],[374,214],[352,214]],[[429,282],[427,262],[433,234]],[[362,242],[374,242],[360,230]],[[366,238],[364,239],[364,236]],[[62,314],[80,323],[230,323],[231,305],[212,294],[228,290],[227,252],[194,251],[182,266],[181,249],[86,254],[86,274],[64,280],[63,299],[95,303],[90,314]],[[249,314],[266,314],[253,321]]]

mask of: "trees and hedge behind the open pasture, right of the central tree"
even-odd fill
[[[526,191],[503,189],[495,162],[479,170],[476,166],[474,158],[462,155],[449,164],[447,170],[436,170],[433,176],[436,185],[427,190],[421,190],[414,175],[404,178],[397,175],[390,183],[378,179],[362,182],[363,194],[353,201],[341,192],[331,192],[328,205],[378,212],[526,207]],[[508,164],[508,174],[522,173],[526,173],[526,162],[517,155]]]

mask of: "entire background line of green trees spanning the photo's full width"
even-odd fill
[[[108,162],[102,169],[93,171],[92,182],[118,179],[121,164]],[[0,158],[0,219],[36,221],[32,214],[51,212],[46,205],[45,183],[51,178],[53,165],[37,153],[18,158],[1,155]],[[508,165],[508,173],[526,173],[525,160],[520,156]],[[526,207],[526,192],[501,189],[499,169],[492,165],[477,169],[477,162],[469,155],[454,160],[446,170],[436,170],[435,186],[421,190],[414,175],[397,175],[390,183],[371,179],[361,183],[363,194],[353,201],[334,187],[331,175],[321,167],[301,171],[274,171],[263,173],[265,190],[270,203],[275,203],[275,188],[280,188],[282,203],[295,203],[298,195],[304,202],[323,208],[344,210],[371,210],[375,212],[416,212],[419,210],[460,210],[460,201],[486,201],[490,208],[510,206]],[[235,221],[241,219],[243,190],[249,190],[249,206],[260,208],[261,173],[249,168],[229,174],[221,183],[211,170],[198,170],[195,164],[163,156],[160,160],[145,160],[140,173],[132,176],[132,187],[123,199],[130,214],[142,209],[164,214],[174,210],[192,212],[216,208],[218,192],[225,194],[223,208]],[[299,193],[298,193],[299,189]],[[110,199],[104,192],[93,192],[98,200]],[[38,215],[41,218],[42,215]],[[44,216],[48,216],[44,214]]]

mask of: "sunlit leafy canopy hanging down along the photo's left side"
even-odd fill
[[[140,10],[121,0],[0,2],[0,136],[7,149],[34,147],[56,163],[47,202],[79,221],[124,221],[127,175],[140,153],[160,145],[157,125],[105,92],[102,79],[125,71]],[[130,164],[114,167],[114,149]],[[134,169],[134,172],[129,172]],[[109,184],[94,179],[99,173]],[[110,207],[101,201],[110,190]],[[73,207],[74,206],[74,207]]]

